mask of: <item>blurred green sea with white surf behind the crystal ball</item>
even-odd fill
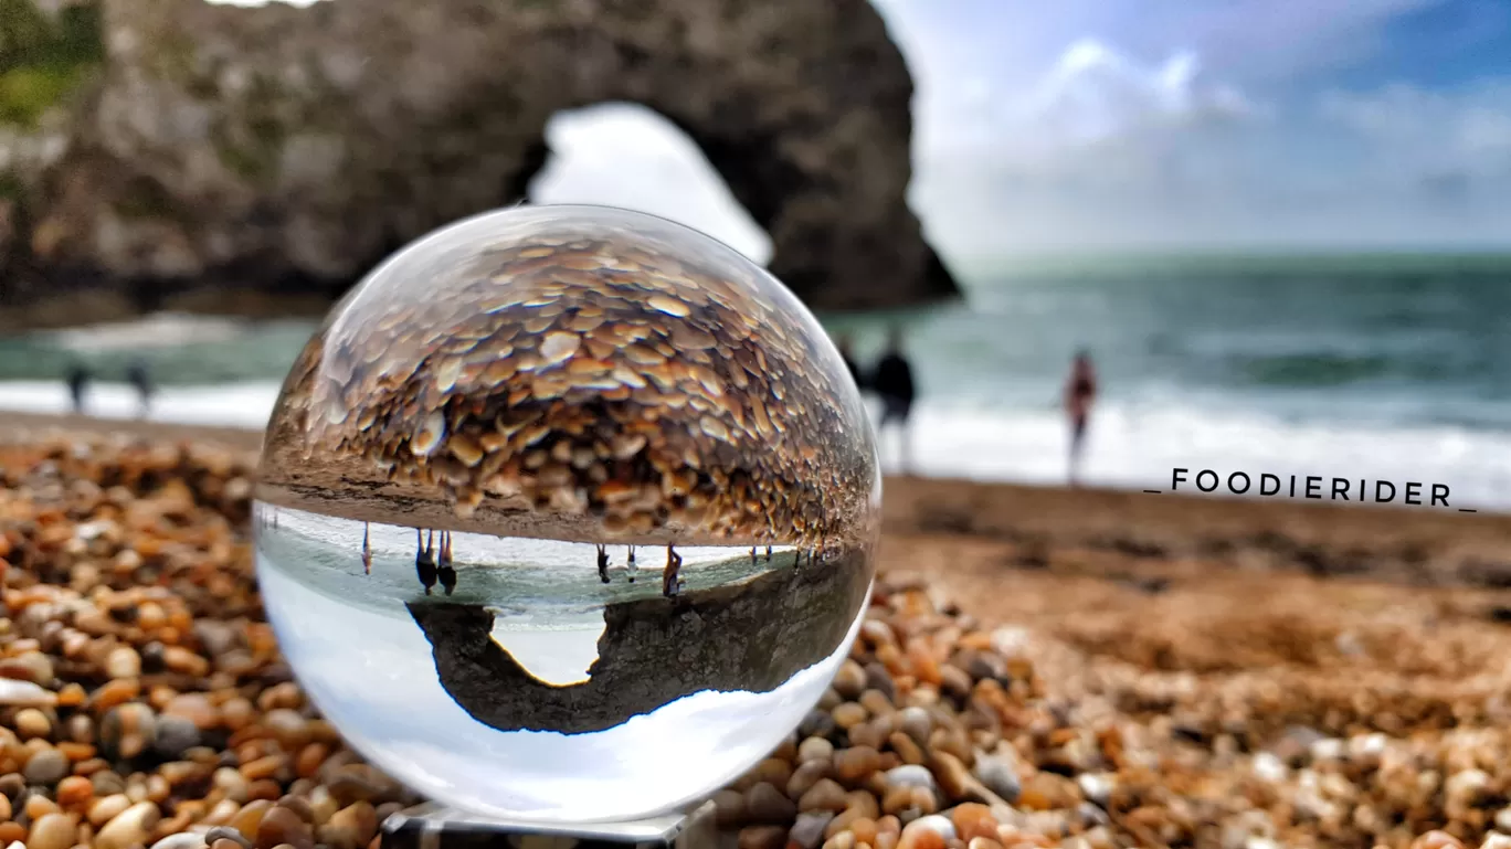
[[[922,397],[907,435],[881,434],[888,471],[907,453],[916,474],[1065,482],[1061,387],[1085,349],[1082,483],[1231,496],[1242,473],[1256,497],[1272,474],[1284,497],[1298,476],[1340,502],[1339,477],[1357,502],[1384,480],[1393,503],[1419,483],[1419,509],[1511,512],[1511,255],[1037,257],[963,276],[955,302],[820,316],[863,364],[904,332]],[[150,417],[261,428],[314,325],[157,314],[0,337],[0,420],[65,411],[76,361],[98,373],[88,412],[136,415],[124,366],[142,360]]]

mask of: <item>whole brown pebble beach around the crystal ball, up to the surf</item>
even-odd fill
[[[0,846],[376,847],[283,663],[257,435],[0,426]],[[887,482],[851,659],[739,849],[1511,847],[1511,520]]]

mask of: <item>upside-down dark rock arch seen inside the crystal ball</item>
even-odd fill
[[[405,606],[431,642],[441,687],[473,719],[500,731],[583,734],[698,692],[775,690],[845,644],[870,580],[866,556],[848,551],[745,583],[610,604],[589,678],[568,686],[535,678],[500,648],[485,606]]]

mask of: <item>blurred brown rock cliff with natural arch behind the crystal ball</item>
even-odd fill
[[[20,30],[0,32],[0,323],[323,310],[399,245],[521,199],[552,115],[610,101],[698,144],[810,305],[956,292],[905,202],[913,85],[866,0],[0,0],[0,17]],[[35,68],[47,85],[12,103]]]

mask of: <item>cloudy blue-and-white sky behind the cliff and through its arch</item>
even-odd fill
[[[1511,248],[1511,0],[875,2],[914,76],[910,204],[955,263]],[[657,115],[564,113],[548,140],[535,201],[769,257]]]

